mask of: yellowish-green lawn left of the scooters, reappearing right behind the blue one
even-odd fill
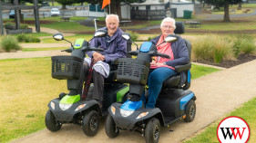
[[[0,142],[45,129],[47,103],[67,92],[67,81],[51,78],[50,57],[1,60],[0,67]],[[213,71],[193,65],[192,78]]]

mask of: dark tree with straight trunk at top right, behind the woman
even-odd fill
[[[223,22],[230,22],[230,5],[239,4],[241,0],[206,0],[205,3],[215,5],[216,8],[224,7]]]

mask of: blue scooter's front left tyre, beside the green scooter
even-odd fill
[[[105,132],[109,138],[116,138],[119,135],[119,129],[117,129],[114,119],[109,114],[105,123]]]

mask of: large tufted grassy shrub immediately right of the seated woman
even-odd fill
[[[231,47],[233,43],[227,42],[217,35],[200,36],[192,41],[193,60],[211,61],[220,63],[222,60],[233,60]]]

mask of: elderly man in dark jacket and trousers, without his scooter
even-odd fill
[[[90,45],[92,47],[100,47],[104,52],[87,52],[90,58],[86,58],[84,62],[84,69],[86,75],[92,67],[92,80],[94,82],[94,90],[91,97],[87,97],[88,100],[97,100],[100,106],[102,106],[103,92],[104,92],[104,79],[108,77],[109,65],[111,61],[115,61],[118,58],[126,57],[127,41],[122,38],[123,31],[118,28],[119,18],[117,14],[108,14],[106,17],[106,25],[104,30],[108,31],[107,37],[94,38]],[[94,62],[91,62],[93,57]],[[92,63],[92,64],[91,64]],[[95,63],[95,64],[94,64]],[[93,65],[94,64],[94,65]],[[88,76],[86,81],[89,81]],[[87,84],[88,85],[88,84]],[[83,95],[87,95],[88,88],[84,88]]]

